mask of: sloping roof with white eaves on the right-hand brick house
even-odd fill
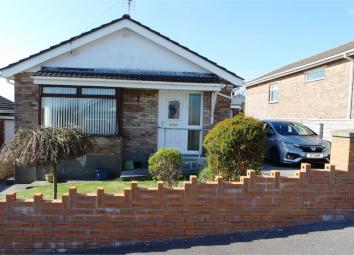
[[[267,74],[264,74],[254,80],[247,82],[246,86],[254,86],[259,83],[275,79],[284,75],[289,75],[291,73],[302,71],[308,68],[314,68],[316,66],[320,66],[328,62],[341,59],[343,58],[344,54],[354,54],[354,41],[275,69]]]

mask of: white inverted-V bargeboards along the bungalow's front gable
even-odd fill
[[[163,46],[172,52],[176,53],[177,55],[180,55],[187,60],[205,68],[206,70],[210,71],[211,73],[214,73],[223,79],[231,82],[235,86],[241,86],[243,84],[243,80],[240,78],[235,77],[234,75],[228,73],[227,71],[223,70],[222,68],[213,65],[212,63],[206,61],[205,59],[193,54],[192,52],[189,52],[188,50],[184,49],[181,46],[178,46],[162,36],[159,36],[148,29],[141,27],[140,25],[130,21],[130,20],[122,20],[120,22],[117,22],[115,24],[112,24],[110,26],[107,26],[105,28],[99,29],[93,33],[89,33],[86,36],[83,36],[79,39],[73,40],[71,42],[68,42],[62,46],[59,46],[57,48],[54,48],[52,50],[49,50],[48,52],[42,53],[36,57],[32,57],[22,63],[19,63],[17,65],[14,65],[12,67],[9,67],[7,69],[4,69],[1,71],[1,76],[4,78],[11,77],[12,75],[22,72],[24,70],[27,70],[31,67],[34,67],[40,63],[43,63],[49,59],[55,58],[61,54],[64,54],[66,52],[69,52],[73,49],[76,49],[80,46],[83,46],[87,43],[90,43],[94,40],[97,40],[101,37],[104,37],[106,35],[109,35],[113,32],[116,32],[120,29],[123,28],[128,28],[131,29],[132,31],[150,39],[151,41],[159,44],[160,46]]]

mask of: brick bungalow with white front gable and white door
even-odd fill
[[[202,140],[230,117],[231,90],[243,79],[124,15],[0,69],[14,80],[15,127],[78,126],[94,152],[62,162],[59,178],[119,176],[124,160],[144,166],[161,147],[199,157]],[[16,168],[16,182],[44,169]]]

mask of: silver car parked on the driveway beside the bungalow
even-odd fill
[[[264,120],[267,132],[265,157],[274,163],[329,162],[331,144],[308,127],[279,120]]]

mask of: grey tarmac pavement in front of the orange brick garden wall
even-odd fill
[[[85,254],[354,254],[354,220],[81,251]]]

